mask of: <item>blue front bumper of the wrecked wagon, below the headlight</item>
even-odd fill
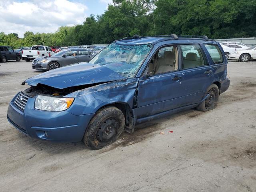
[[[16,96],[14,97],[14,99]],[[56,142],[79,142],[94,114],[73,115],[67,110],[48,112],[34,109],[35,98],[29,98],[22,111],[10,102],[8,121],[22,133],[36,139]]]

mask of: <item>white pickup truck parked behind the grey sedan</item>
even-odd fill
[[[33,45],[30,50],[22,50],[22,57],[29,62],[38,57],[52,56],[54,52],[48,47],[43,45]]]

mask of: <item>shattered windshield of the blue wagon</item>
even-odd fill
[[[120,45],[114,42],[89,63],[105,66],[124,77],[134,77],[151,49],[151,44]]]

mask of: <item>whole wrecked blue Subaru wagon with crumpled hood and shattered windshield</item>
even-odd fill
[[[27,79],[31,87],[10,102],[7,118],[42,140],[91,149],[114,142],[135,124],[197,108],[212,110],[226,91],[227,60],[206,36],[149,36],[117,40],[89,63]]]

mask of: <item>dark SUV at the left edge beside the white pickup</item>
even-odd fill
[[[0,46],[0,61],[5,63],[8,60],[20,61],[20,53],[9,46]]]

